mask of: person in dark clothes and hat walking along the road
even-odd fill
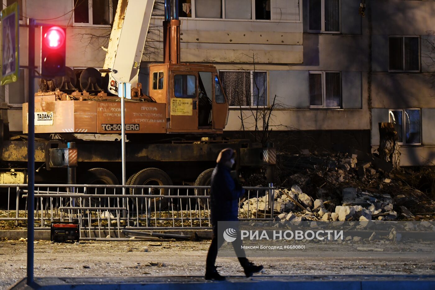
[[[210,214],[213,238],[207,253],[205,280],[225,280],[225,277],[218,273],[214,265],[218,250],[223,243],[223,239],[220,239],[222,240],[221,243],[218,242],[218,235],[223,233],[221,229],[219,229],[218,233],[218,221],[238,221],[238,201],[244,194],[244,189],[238,180],[231,177],[231,168],[235,163],[234,157],[235,152],[233,149],[223,149],[218,155],[217,165],[211,175]],[[251,277],[252,274],[263,270],[262,265],[255,266],[245,258],[246,255],[241,248],[240,239],[236,239],[232,245],[246,277]]]

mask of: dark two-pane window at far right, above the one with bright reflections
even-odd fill
[[[420,71],[419,37],[389,37],[389,70]]]

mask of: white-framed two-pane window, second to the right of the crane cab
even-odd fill
[[[310,106],[340,108],[341,75],[336,71],[310,71]]]

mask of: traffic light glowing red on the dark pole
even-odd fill
[[[41,76],[65,75],[65,28],[58,26],[41,27]]]

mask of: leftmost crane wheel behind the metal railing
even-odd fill
[[[93,168],[85,171],[80,177],[81,184],[89,184],[89,185],[116,185],[119,184],[116,176],[107,169],[104,168]],[[105,189],[105,188],[88,188],[88,194],[114,194],[115,189]],[[107,199],[100,198],[84,198],[84,202],[82,202],[84,206],[105,206],[107,204]],[[110,204],[114,204],[110,202]]]

